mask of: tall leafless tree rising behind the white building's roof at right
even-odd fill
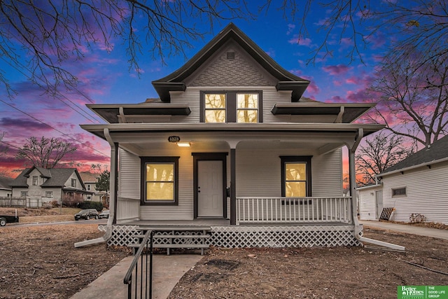
[[[421,53],[406,60],[385,60],[371,91],[379,97],[372,120],[428,146],[448,132],[448,61]],[[384,113],[387,111],[387,113]]]

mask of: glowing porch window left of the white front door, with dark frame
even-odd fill
[[[179,200],[179,157],[141,158],[141,204],[174,204]]]

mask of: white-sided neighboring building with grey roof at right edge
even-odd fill
[[[379,209],[389,207],[395,208],[392,221],[409,222],[411,214],[421,214],[426,221],[448,224],[448,136],[377,177],[381,185],[358,188],[360,219],[378,219]]]

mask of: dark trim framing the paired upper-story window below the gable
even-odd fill
[[[262,90],[201,90],[200,91],[200,123],[205,123],[205,95],[225,94],[225,123],[237,123],[237,95],[258,94],[258,123],[263,122],[263,92]],[[253,109],[251,109],[253,110]]]

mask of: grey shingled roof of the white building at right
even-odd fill
[[[439,162],[440,160],[445,159],[448,160],[448,135],[435,141],[430,146],[423,148],[412,155],[409,155],[409,157],[407,157],[405,160],[402,160],[397,164],[389,167],[377,176],[399,172],[403,169],[430,165],[434,162]]]

